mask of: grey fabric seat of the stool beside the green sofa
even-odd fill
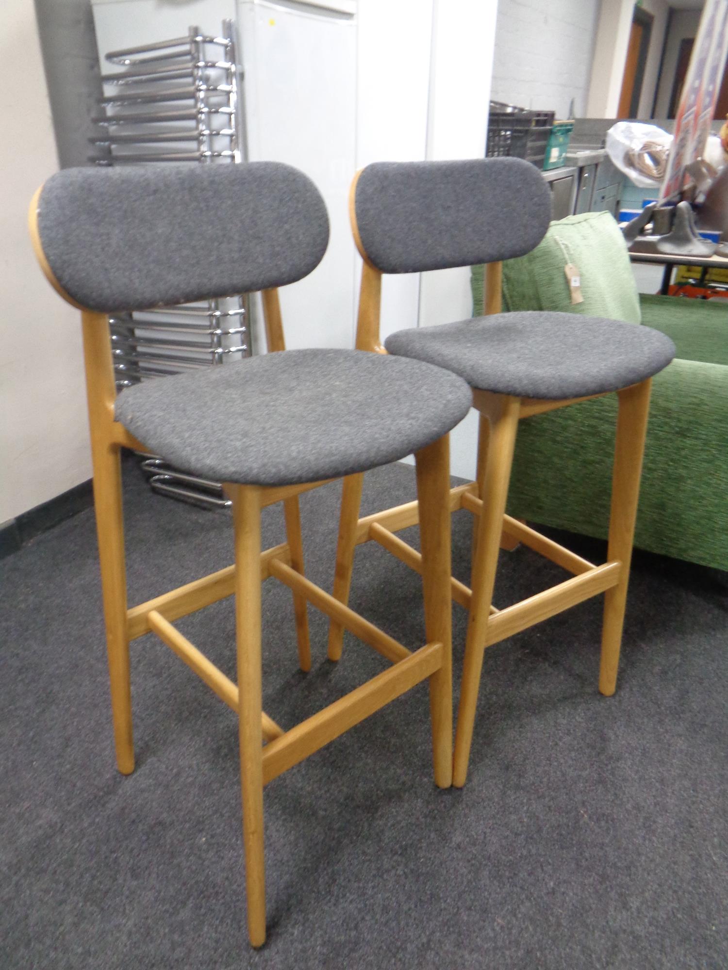
[[[550,399],[628,387],[675,357],[673,341],[649,327],[546,311],[400,330],[385,345],[391,354],[460,374],[483,391]]]

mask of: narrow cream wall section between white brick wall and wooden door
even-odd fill
[[[586,99],[587,117],[616,117],[634,6],[634,0],[603,0]]]

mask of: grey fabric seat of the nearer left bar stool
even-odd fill
[[[373,469],[447,434],[454,373],[361,350],[287,350],[123,391],[116,418],[180,469],[288,485]]]

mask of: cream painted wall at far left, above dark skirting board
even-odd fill
[[[23,79],[22,117],[32,126],[0,142],[0,523],[90,477],[81,326],[50,289],[33,255],[27,209],[57,168],[38,34],[29,0],[0,5],[6,84]],[[7,93],[7,92],[6,92]],[[18,134],[17,97],[0,127]]]

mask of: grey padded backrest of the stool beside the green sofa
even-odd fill
[[[546,235],[550,193],[519,158],[376,162],[354,209],[366,256],[382,273],[418,273],[523,256]]]

